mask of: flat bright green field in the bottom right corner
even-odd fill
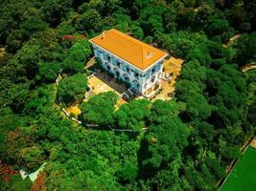
[[[220,191],[256,190],[256,149],[249,146]]]

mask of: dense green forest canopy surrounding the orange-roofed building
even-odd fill
[[[255,135],[256,72],[240,70],[256,61],[254,0],[0,2],[0,159],[27,172],[47,162],[43,189],[217,190]],[[114,93],[93,96],[79,118],[100,126],[85,128],[59,99],[81,100],[88,39],[112,28],[185,62],[172,100],[116,110]]]

